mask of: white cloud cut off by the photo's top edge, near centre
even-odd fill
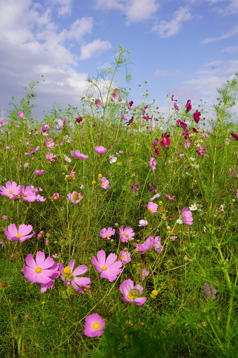
[[[159,8],[157,0],[95,0],[97,9],[119,9],[127,17],[127,24],[147,20]]]

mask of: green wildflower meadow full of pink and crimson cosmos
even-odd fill
[[[238,74],[163,114],[129,56],[0,121],[2,358],[237,357]]]

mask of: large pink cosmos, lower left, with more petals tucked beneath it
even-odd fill
[[[54,284],[54,278],[60,274],[58,270],[59,264],[55,263],[50,257],[45,259],[45,253],[38,251],[36,253],[36,261],[32,254],[27,255],[26,264],[23,265],[24,277],[33,283],[41,283],[41,292],[45,292]]]

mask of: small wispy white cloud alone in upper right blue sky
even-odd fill
[[[183,22],[192,18],[190,7],[180,6],[178,10],[174,11],[171,21],[160,21],[158,25],[153,26],[152,31],[158,32],[161,38],[173,36],[180,31]]]

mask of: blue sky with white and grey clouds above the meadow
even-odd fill
[[[161,110],[166,94],[212,104],[238,72],[238,0],[0,0],[0,13],[6,109],[41,75],[34,113],[80,105],[87,76],[107,70],[119,45],[131,52],[134,104],[145,81]]]

